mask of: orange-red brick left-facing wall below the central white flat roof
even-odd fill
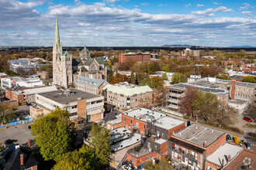
[[[124,117],[126,117],[126,122],[124,122]],[[130,120],[132,120],[132,124],[130,124]],[[144,134],[145,133],[144,132],[144,125],[147,128],[147,122],[140,121],[136,118],[126,116],[126,114],[122,114],[122,124],[121,124],[122,127],[123,127],[123,125],[125,125],[125,128],[126,128],[126,125],[127,125],[127,127],[128,127],[127,129],[129,129],[129,126],[130,126],[130,131],[132,131],[132,126],[133,125],[137,126],[137,122],[139,123],[138,130],[140,130],[140,134],[141,134],[141,131],[143,131],[143,134]],[[136,131],[136,133],[138,132],[138,130]]]

